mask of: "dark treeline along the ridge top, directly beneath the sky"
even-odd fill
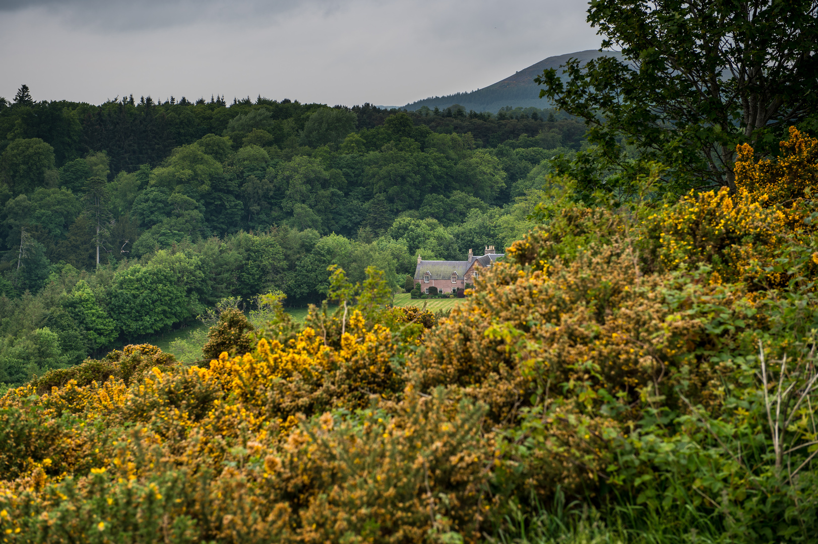
[[[226,135],[231,121],[254,110],[263,110],[265,119],[258,119],[255,114],[243,119],[240,125],[258,124],[252,128],[271,135],[271,139],[263,143],[279,150],[294,149],[299,147],[301,131],[310,115],[322,108],[326,106],[263,97],[255,101],[234,99],[227,106],[223,97],[211,97],[209,101],[200,98],[194,103],[185,97],[155,101],[151,97],[135,99],[133,95],[94,106],[85,102],[34,101],[29,88],[23,85],[13,101],[0,97],[0,152],[16,139],[39,138],[52,146],[56,167],[60,168],[71,160],[105,151],[110,159],[111,176],[114,176],[120,171],[135,172],[142,164],[155,167],[175,147],[196,142],[207,134]],[[389,116],[399,111],[368,103],[352,108],[335,106],[335,109],[352,111],[357,117],[357,128],[367,129],[383,125]],[[576,147],[584,133],[582,123],[555,110],[527,108],[524,117],[506,115],[505,118],[489,112],[466,112],[456,105],[438,111],[439,115],[429,115],[432,110],[421,110],[403,112],[413,123],[425,124],[433,132],[472,133],[479,147],[497,146],[522,134],[536,137],[541,131],[555,129],[564,135],[566,146]],[[532,119],[534,110],[537,115]],[[555,115],[551,124],[546,120],[549,114]],[[240,140],[246,136],[241,134]],[[233,143],[242,145],[241,141]]]

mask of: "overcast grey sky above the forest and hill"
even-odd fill
[[[0,97],[258,94],[352,106],[470,91],[594,49],[576,0],[0,0]]]

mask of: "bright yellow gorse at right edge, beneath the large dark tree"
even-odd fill
[[[741,282],[748,290],[780,289],[793,279],[778,259],[798,259],[815,232],[811,195],[818,188],[818,140],[797,128],[780,142],[780,155],[756,160],[753,148],[736,148],[738,191],[691,193],[676,205],[649,214],[639,226],[646,251],[664,270],[706,263],[712,281]],[[802,259],[797,275],[818,273],[814,259]]]

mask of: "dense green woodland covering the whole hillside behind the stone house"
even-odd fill
[[[220,299],[320,302],[337,264],[402,290],[424,259],[506,247],[547,159],[585,127],[497,115],[258,97],[101,106],[0,100],[0,382],[19,384]]]

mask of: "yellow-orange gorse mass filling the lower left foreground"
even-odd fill
[[[37,420],[6,435],[25,452],[2,458],[3,523],[20,542],[118,542],[128,531],[147,542],[323,542],[327,531],[375,530],[366,529],[372,519],[415,541],[433,527],[476,527],[487,477],[485,447],[474,444],[480,412],[452,411],[443,397],[411,388],[403,394],[416,402],[406,410],[363,410],[373,395],[402,392],[394,358],[425,330],[409,326],[399,334],[367,326],[356,308],[343,334],[304,327],[286,345],[259,339],[252,353],[222,353],[208,368],[154,366],[130,385],[112,375],[39,395],[35,384],[12,390],[0,401],[4,428],[23,413]],[[139,348],[160,353],[124,351]],[[360,413],[363,434],[329,413],[304,419],[325,407]],[[318,494],[343,474],[345,490]],[[373,500],[380,506],[369,513],[350,510]]]

